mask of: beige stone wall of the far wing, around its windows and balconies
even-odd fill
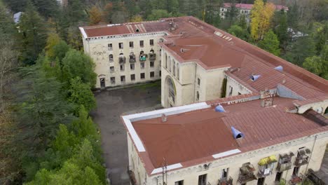
[[[146,81],[155,81],[160,79],[160,46],[158,42],[163,36],[163,33],[158,34],[135,34],[131,36],[112,36],[108,38],[106,36],[103,39],[91,39],[86,41],[83,39],[84,51],[96,64],[95,72],[97,74],[96,88],[100,88],[100,78],[105,78],[106,87],[113,87],[117,85],[128,85],[132,83],[142,83]],[[150,46],[150,40],[153,39],[153,46]],[[133,41],[134,47],[130,48],[129,42]],[[139,46],[139,41],[144,41],[144,47]],[[113,46],[112,50],[109,50],[108,44]],[[123,49],[118,48],[118,43],[123,43]],[[156,60],[154,66],[150,66],[149,53],[153,49],[156,53]],[[144,62],[144,68],[142,69],[139,62],[139,53],[144,51],[148,55]],[[133,52],[136,57],[135,69],[130,69],[129,55]],[[118,62],[118,56],[123,53],[125,56],[124,71],[121,71],[120,64]],[[109,55],[113,55],[114,61],[109,62]],[[110,67],[114,67],[114,71],[110,71]],[[150,76],[151,72],[154,72],[154,77]],[[145,78],[142,79],[140,74],[144,73]],[[130,75],[135,74],[135,81],[131,81]],[[125,82],[121,82],[121,76],[125,76]],[[110,78],[115,77],[115,83],[111,84]]]

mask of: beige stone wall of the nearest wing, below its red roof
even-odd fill
[[[184,180],[184,184],[189,185],[198,185],[198,176],[202,174],[207,174],[207,182],[210,184],[217,184],[218,180],[221,178],[222,170],[228,168],[228,176],[233,178],[233,184],[240,184],[238,182],[238,175],[240,167],[243,163],[251,163],[255,167],[254,174],[258,177],[257,173],[259,170],[259,160],[261,158],[266,158],[271,155],[275,155],[276,158],[279,158],[279,154],[293,152],[295,154],[292,157],[292,169],[283,172],[282,178],[287,179],[287,182],[292,178],[292,172],[294,169],[294,161],[296,160],[297,151],[301,147],[307,147],[313,152],[310,158],[310,163],[308,167],[306,165],[302,165],[299,170],[299,174],[305,174],[306,169],[311,168],[315,171],[320,169],[320,165],[322,163],[322,158],[324,156],[324,151],[328,144],[328,133],[324,135],[320,135],[316,141],[314,141],[314,136],[304,137],[302,139],[296,139],[294,141],[286,142],[284,144],[278,144],[275,146],[270,146],[264,149],[259,149],[257,151],[251,151],[247,153],[242,153],[239,155],[235,155],[232,157],[219,159],[216,161],[210,162],[210,169],[203,170],[203,164],[195,165],[193,167],[186,167],[181,170],[175,170],[172,172],[168,172],[168,185],[175,185],[175,181]],[[313,144],[315,143],[314,147]],[[208,163],[206,163],[208,164]],[[271,175],[266,177],[264,184],[273,185],[275,184],[275,175],[277,173],[276,167],[278,163],[274,163],[273,172]],[[147,184],[156,184],[157,177],[159,176],[159,180],[161,181],[161,174],[154,175],[153,177],[149,177]],[[253,180],[247,182],[247,184],[257,184],[257,180]]]

